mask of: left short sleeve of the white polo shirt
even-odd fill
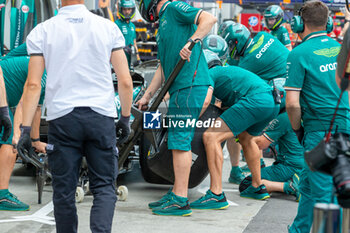
[[[30,56],[42,56],[44,54],[44,29],[43,24],[37,25],[27,36],[27,51]]]

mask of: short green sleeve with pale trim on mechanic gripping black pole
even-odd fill
[[[171,9],[174,11],[176,20],[183,24],[197,24],[199,15],[202,13],[201,9],[192,7],[185,2],[176,2],[171,6]]]

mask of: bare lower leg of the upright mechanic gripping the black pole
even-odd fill
[[[192,152],[181,150],[173,150],[172,152],[175,173],[173,193],[180,197],[187,197],[188,180],[192,164]]]

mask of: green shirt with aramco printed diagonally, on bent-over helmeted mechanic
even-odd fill
[[[286,76],[289,50],[267,32],[259,32],[239,59],[238,66],[265,81]]]

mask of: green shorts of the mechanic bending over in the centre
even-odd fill
[[[227,109],[220,118],[227,124],[234,136],[247,131],[258,136],[275,119],[279,105],[275,104],[272,92],[257,93],[242,97]]]

